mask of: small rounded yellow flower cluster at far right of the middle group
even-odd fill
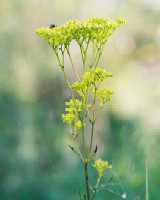
[[[100,88],[97,90],[97,97],[98,101],[100,103],[100,107],[102,107],[105,103],[111,100],[111,97],[113,96],[112,89],[109,88]]]

